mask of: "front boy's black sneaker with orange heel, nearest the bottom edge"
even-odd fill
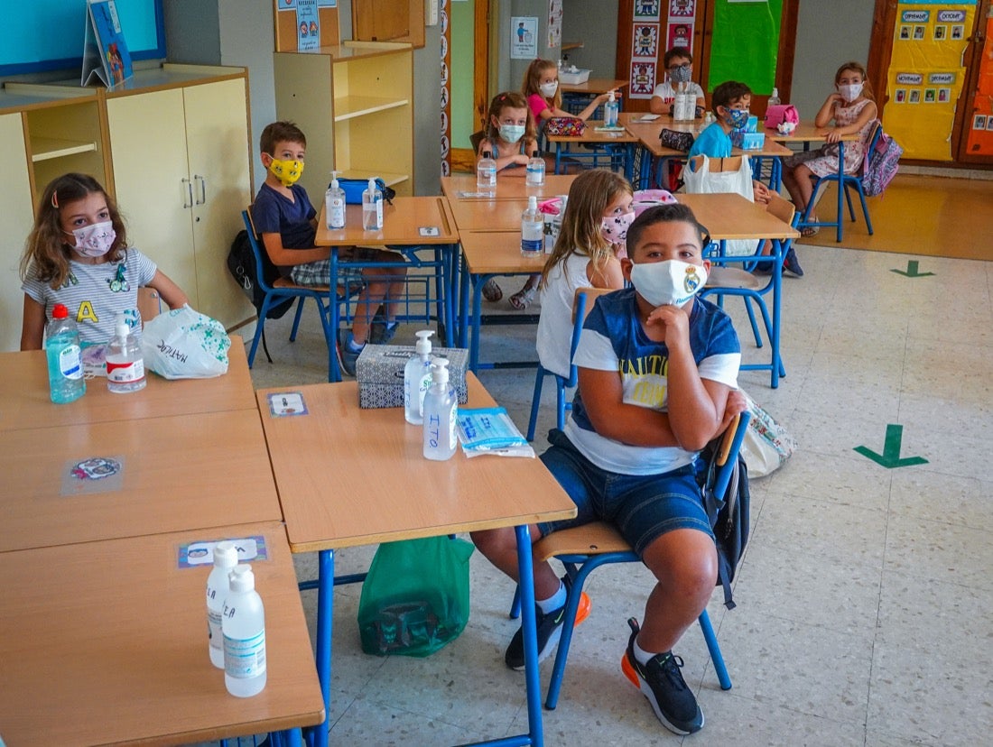
[[[703,728],[703,711],[696,704],[696,697],[686,686],[679,672],[683,661],[671,651],[656,654],[646,665],[635,659],[635,639],[638,638],[638,621],[628,620],[631,638],[628,651],[621,660],[621,669],[632,685],[641,690],[662,725],[674,734],[692,734]]]

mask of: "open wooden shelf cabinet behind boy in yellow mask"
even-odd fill
[[[332,170],[413,192],[410,45],[345,42],[275,54],[276,113],[307,136],[301,184],[318,204]]]

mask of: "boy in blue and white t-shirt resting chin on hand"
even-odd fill
[[[575,501],[575,519],[550,532],[614,524],[655,575],[643,627],[632,619],[624,669],[662,723],[698,731],[703,714],[672,647],[714,589],[717,551],[696,481],[700,449],[745,409],[737,393],[741,348],[731,319],[696,298],[710,263],[705,230],[685,205],[659,205],[628,230],[625,279],[634,288],[601,297],[583,325],[574,362],[572,417],[549,435],[541,459]],[[517,577],[511,529],[473,534],[480,551]],[[534,563],[539,661],[558,643],[566,590],[547,562]],[[523,668],[520,631],[504,656]]]

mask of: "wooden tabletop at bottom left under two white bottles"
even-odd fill
[[[230,515],[241,515],[233,508]],[[208,655],[196,541],[262,536],[267,683],[229,695]],[[0,734],[18,745],[186,744],[320,723],[324,707],[278,522],[0,554]]]

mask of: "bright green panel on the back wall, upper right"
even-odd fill
[[[782,0],[717,0],[707,90],[725,80],[772,93],[780,49]]]

